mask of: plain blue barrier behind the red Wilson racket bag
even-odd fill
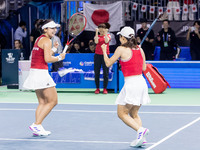
[[[155,66],[168,81],[171,88],[200,88],[200,61],[147,61]],[[146,80],[148,87],[150,84]],[[119,91],[124,76],[119,71]]]

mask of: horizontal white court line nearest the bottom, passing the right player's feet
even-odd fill
[[[118,142],[118,141],[78,141],[78,140],[45,140],[45,139],[11,139],[0,138],[0,141],[27,141],[27,142],[57,142],[57,143],[99,143],[99,144],[129,144],[130,142]],[[152,145],[154,143],[147,143]]]

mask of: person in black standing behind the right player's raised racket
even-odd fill
[[[137,31],[137,41],[139,44],[141,43],[143,37],[146,35],[149,29],[147,27],[147,19],[141,19],[140,22],[142,27]],[[142,44],[142,49],[144,50],[146,60],[153,60],[153,55],[154,55],[153,42],[154,42],[154,32],[153,30],[151,30]]]

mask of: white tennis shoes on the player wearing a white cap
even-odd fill
[[[137,139],[131,142],[130,146],[132,147],[140,147],[145,144],[146,136],[149,134],[149,129],[147,128],[139,128],[137,131]]]

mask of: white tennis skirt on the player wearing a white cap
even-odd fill
[[[125,77],[124,86],[119,93],[116,104],[143,105],[150,103],[147,83],[142,75]]]

